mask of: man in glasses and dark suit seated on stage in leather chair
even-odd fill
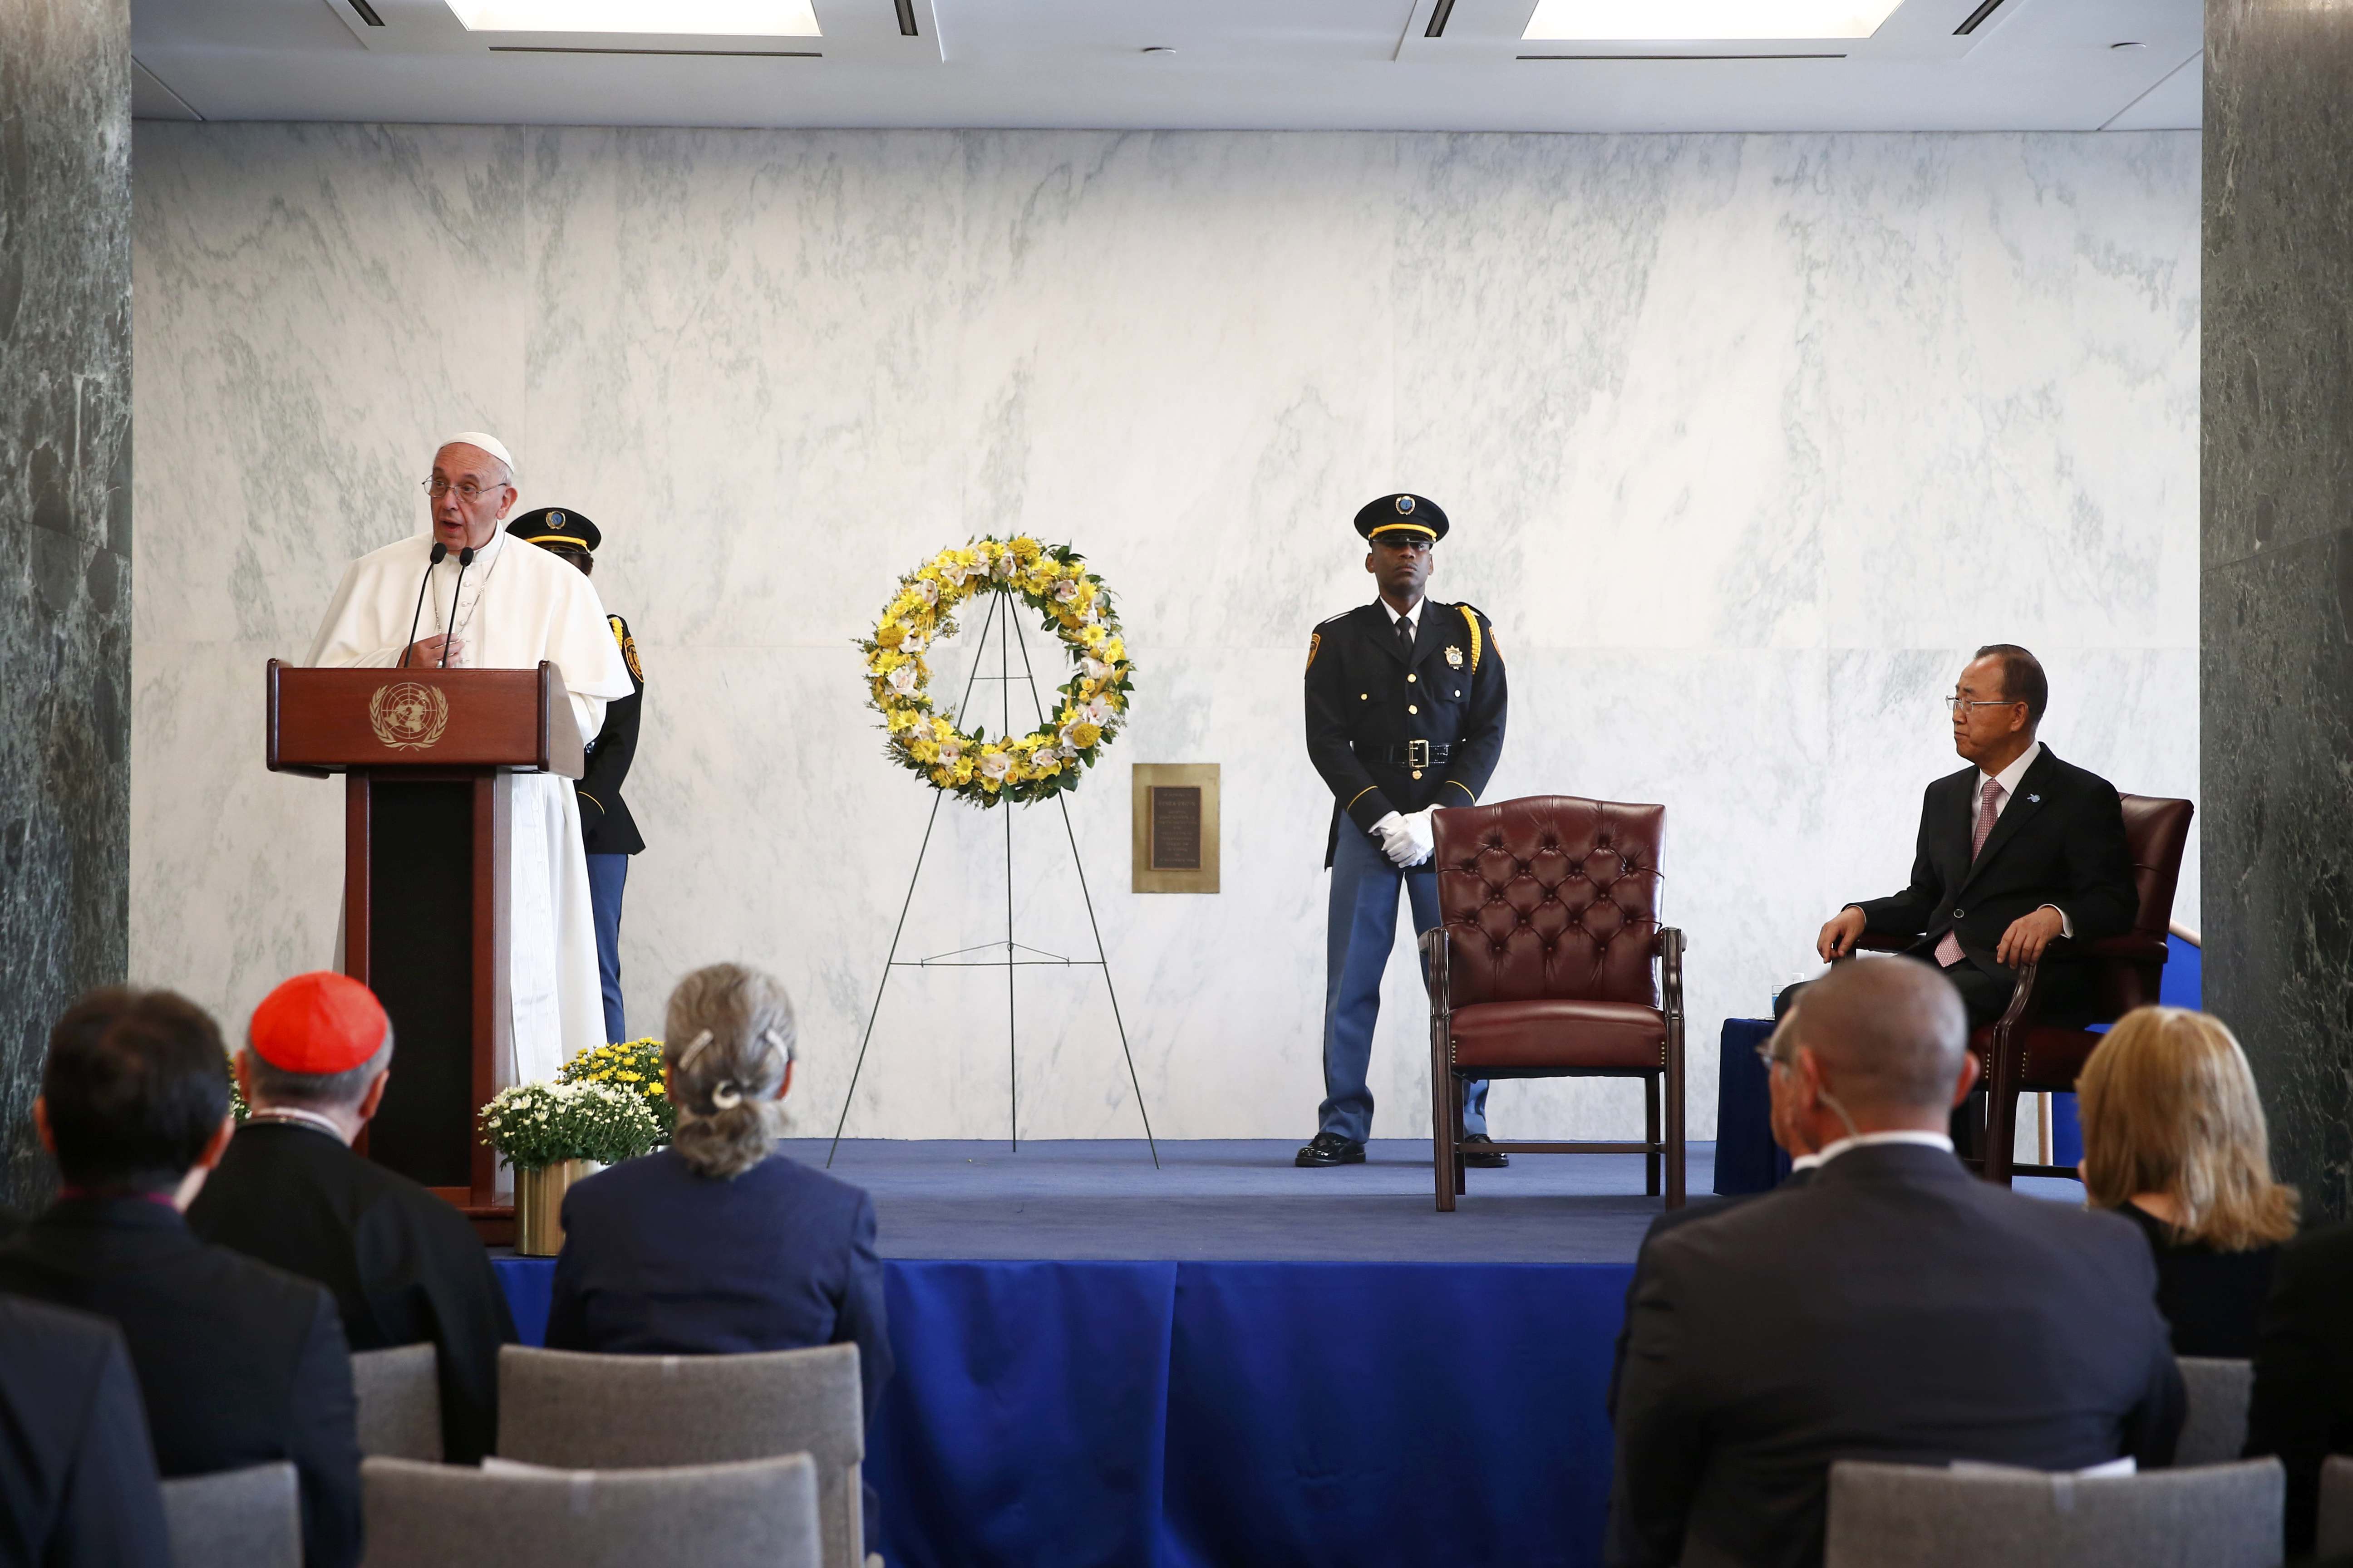
[[[1849,957],[1866,931],[1906,938],[1906,957],[1960,990],[1972,1027],[2000,1018],[2017,969],[2040,961],[2040,1018],[2092,1020],[2082,945],[2129,931],[2139,896],[2115,785],[2035,738],[2047,701],[2033,654],[2007,642],[1977,651],[1946,698],[1969,766],[1927,788],[1911,886],[1833,914],[1817,938],[1824,959]]]

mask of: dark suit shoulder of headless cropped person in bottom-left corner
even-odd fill
[[[0,1563],[172,1568],[122,1333],[0,1295]]]

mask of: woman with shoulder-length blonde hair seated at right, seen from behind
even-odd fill
[[[2271,1180],[2264,1103],[2219,1018],[2125,1013],[2075,1084],[2082,1187],[2148,1234],[2177,1356],[2252,1356],[2297,1190]]]

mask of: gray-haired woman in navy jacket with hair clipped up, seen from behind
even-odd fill
[[[892,1354],[873,1199],[776,1152],[793,1004],[741,964],[678,983],[661,1077],[668,1150],[565,1194],[551,1349],[647,1356],[859,1347],[873,1425]],[[873,1493],[866,1507],[875,1540]]]

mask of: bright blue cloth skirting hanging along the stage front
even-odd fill
[[[1626,1265],[887,1265],[892,1566],[1595,1563]],[[499,1260],[525,1340],[553,1262]]]

